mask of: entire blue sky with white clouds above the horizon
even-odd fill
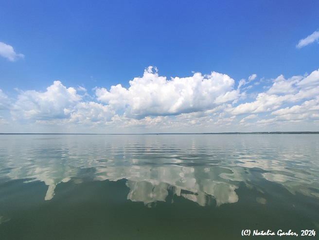
[[[319,131],[318,9],[2,0],[0,132]]]

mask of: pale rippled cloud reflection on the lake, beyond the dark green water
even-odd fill
[[[318,140],[297,137],[302,141],[291,135],[2,135],[0,179],[42,181],[45,200],[58,184],[84,177],[126,179],[127,199],[145,205],[166,201],[169,192],[202,206],[236,203],[240,183],[254,185],[258,177],[319,197]],[[253,169],[260,175],[248,174]]]

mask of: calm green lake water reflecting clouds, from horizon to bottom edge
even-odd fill
[[[245,239],[246,229],[318,239],[318,134],[0,135],[1,240]]]

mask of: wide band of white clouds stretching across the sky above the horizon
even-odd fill
[[[20,124],[103,133],[319,130],[319,70],[287,79],[252,74],[236,83],[216,72],[168,79],[148,67],[129,85],[89,95],[54,81],[45,92],[20,91],[16,99],[0,90],[0,131]]]

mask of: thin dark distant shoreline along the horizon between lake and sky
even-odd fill
[[[0,133],[0,135],[235,135],[235,134],[319,134],[319,131],[253,131],[199,133]]]

